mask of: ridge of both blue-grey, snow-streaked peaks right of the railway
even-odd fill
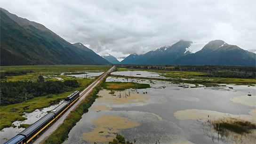
[[[212,40],[195,53],[189,51],[191,45],[192,41],[180,40],[143,55],[131,54],[120,64],[256,65],[255,53],[223,40]]]

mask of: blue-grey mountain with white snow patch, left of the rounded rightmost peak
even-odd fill
[[[191,52],[187,50],[192,41],[180,40],[172,46],[164,46],[144,55],[131,54],[121,64],[172,64],[178,57]]]

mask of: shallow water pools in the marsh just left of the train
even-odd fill
[[[61,103],[63,103],[63,101],[61,101],[59,104]],[[23,117],[26,117],[27,120],[15,121],[12,124],[17,126],[16,128],[13,128],[13,127],[4,128],[2,129],[2,131],[0,131],[0,136],[1,136],[0,144],[5,143],[7,141],[6,139],[11,139],[12,137],[16,136],[18,133],[22,132],[25,128],[18,128],[20,124],[32,124],[36,122],[37,120],[45,116],[48,111],[55,109],[59,104],[54,104],[40,110],[36,109],[34,112],[31,112],[31,113],[24,112],[25,115],[23,115]]]

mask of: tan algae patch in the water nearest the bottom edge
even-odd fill
[[[97,127],[92,132],[83,133],[81,136],[82,140],[96,143],[109,142],[115,138],[115,133],[119,132],[119,129],[139,126],[135,121],[115,115],[104,115],[92,122],[96,124]]]

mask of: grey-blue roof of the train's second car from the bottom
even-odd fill
[[[41,119],[37,120],[35,123],[33,123],[30,127],[24,129],[22,132],[19,133],[19,135],[25,135],[28,136],[30,133],[32,133],[34,130],[36,130],[40,125],[45,123],[47,120],[49,120],[51,117],[53,117],[54,113],[48,113],[45,116],[43,116]]]

